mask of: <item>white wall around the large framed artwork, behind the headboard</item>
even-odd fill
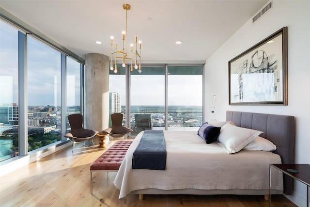
[[[206,60],[205,120],[225,120],[227,110],[293,115],[295,163],[310,164],[310,0],[274,0],[273,3],[270,11],[254,24],[249,19]],[[284,26],[288,27],[288,106],[230,106],[228,61]],[[213,95],[217,96],[215,113],[211,113]],[[295,181],[294,193],[287,197],[303,207],[306,194],[306,185]]]

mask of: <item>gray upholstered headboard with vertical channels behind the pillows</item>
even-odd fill
[[[260,136],[277,146],[274,153],[279,154],[283,164],[294,163],[295,120],[294,116],[226,111],[226,121],[232,121],[238,127],[263,131]],[[293,179],[283,176],[284,193],[292,194]]]

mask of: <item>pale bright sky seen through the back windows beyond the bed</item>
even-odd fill
[[[143,73],[143,69],[142,69]],[[110,75],[110,92],[121,95],[125,105],[125,75]],[[131,76],[131,105],[165,105],[164,75]],[[168,105],[202,106],[202,76],[168,76]]]

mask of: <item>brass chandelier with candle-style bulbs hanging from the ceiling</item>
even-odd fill
[[[116,60],[118,59],[122,59],[123,64],[122,67],[125,67],[125,61],[126,60],[130,60],[131,62],[131,66],[130,66],[130,71],[133,71],[133,60],[135,62],[134,64],[134,68],[138,69],[138,58],[139,58],[139,73],[141,73],[141,41],[137,41],[138,40],[138,35],[135,34],[135,50],[133,50],[134,48],[134,44],[130,44],[130,52],[127,51],[127,11],[130,10],[131,6],[129,4],[123,4],[123,9],[126,10],[126,31],[122,32],[122,41],[123,41],[123,48],[121,48],[120,50],[117,50],[117,42],[114,43],[115,45],[115,51],[113,52],[113,40],[114,37],[111,36],[111,63],[110,63],[110,70],[114,70],[114,73],[117,73],[117,65],[116,65]],[[137,46],[139,44],[139,52],[137,50]],[[115,57],[115,64],[113,67],[113,55]]]

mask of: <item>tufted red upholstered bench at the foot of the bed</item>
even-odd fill
[[[99,158],[93,161],[90,166],[91,194],[93,194],[93,171],[118,171],[131,143],[132,141],[118,141],[114,143]]]

